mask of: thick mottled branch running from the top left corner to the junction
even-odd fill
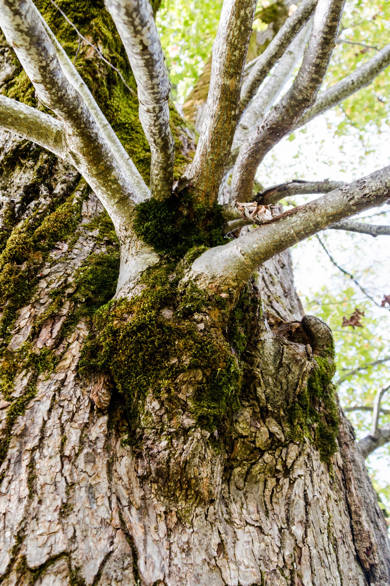
[[[63,121],[69,160],[100,197],[122,238],[128,231],[134,203],[141,198],[122,172],[80,93],[64,75],[35,6],[30,0],[0,0],[0,24],[37,97]]]

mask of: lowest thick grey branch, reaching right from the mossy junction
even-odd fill
[[[268,258],[345,217],[389,200],[390,166],[280,214],[224,246],[210,248],[194,261],[187,278],[201,287],[230,291],[234,300]]]

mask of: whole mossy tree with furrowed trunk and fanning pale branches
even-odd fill
[[[256,3],[225,0],[196,145],[158,6],[0,8],[2,582],[388,584],[331,332],[303,316],[287,249],[375,231],[339,222],[388,202],[389,168],[253,183],[389,47],[317,96],[344,3],[305,0],[245,66]]]

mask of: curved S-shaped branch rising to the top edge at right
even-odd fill
[[[336,44],[343,8],[344,0],[319,0],[309,45],[292,87],[241,148],[232,176],[232,199],[251,200],[259,163],[316,100]]]

